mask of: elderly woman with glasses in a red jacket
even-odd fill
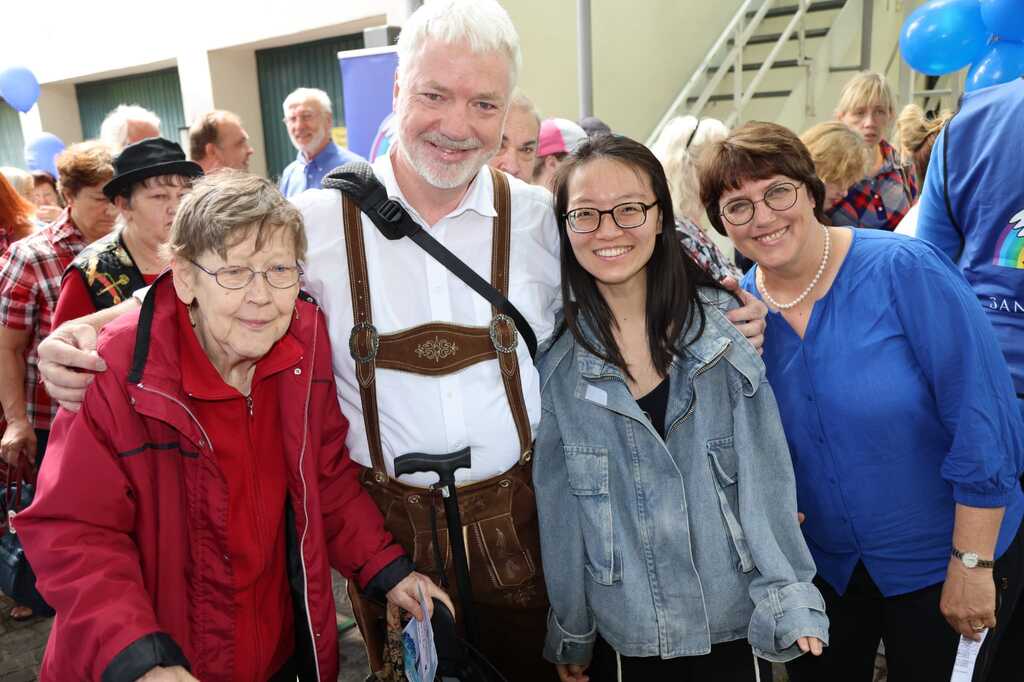
[[[56,609],[43,680],[334,680],[331,566],[414,615],[447,600],[345,451],[302,219],[267,181],[196,185],[171,271],[109,326],[16,519]],[[428,602],[429,603],[429,602]]]

